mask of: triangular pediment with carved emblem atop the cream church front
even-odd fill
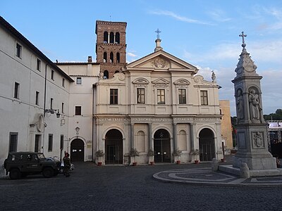
[[[125,66],[125,70],[164,70],[194,73],[198,71],[194,65],[190,65],[184,60],[162,50],[129,63]]]

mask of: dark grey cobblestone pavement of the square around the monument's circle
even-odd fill
[[[97,167],[75,163],[71,177],[0,179],[0,210],[281,210],[281,186],[164,183],[158,172],[206,170],[210,163]],[[197,179],[197,178],[195,178]]]

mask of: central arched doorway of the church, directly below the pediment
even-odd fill
[[[166,129],[154,133],[154,162],[171,162],[171,137]]]

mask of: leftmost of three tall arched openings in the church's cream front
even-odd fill
[[[106,164],[123,164],[123,134],[117,129],[106,133]]]

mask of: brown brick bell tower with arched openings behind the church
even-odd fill
[[[126,65],[126,25],[126,22],[96,21],[96,56],[101,77],[111,78]]]

